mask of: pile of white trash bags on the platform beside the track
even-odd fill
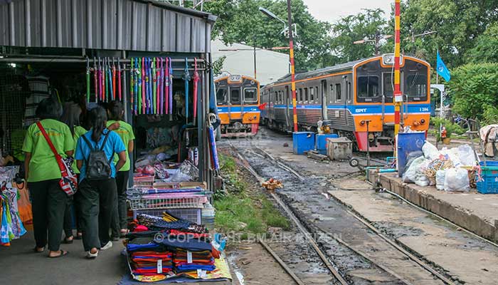
[[[422,187],[435,185],[438,190],[445,191],[470,191],[471,186],[475,187],[473,168],[478,160],[469,145],[438,150],[430,142],[425,142],[422,152],[408,155],[403,182]]]

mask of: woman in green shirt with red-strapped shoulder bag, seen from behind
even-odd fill
[[[36,108],[36,116],[48,133],[59,155],[73,155],[74,141],[68,125],[60,123],[60,104],[52,98],[42,100]],[[68,252],[60,250],[64,212],[68,195],[60,189],[60,169],[48,142],[36,124],[31,125],[23,142],[26,180],[31,193],[33,229],[36,240],[35,252],[43,252],[47,244],[48,257],[63,257]]]

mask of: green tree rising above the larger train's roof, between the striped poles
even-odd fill
[[[332,47],[341,62],[355,61],[375,55],[373,43],[354,44],[362,39],[373,40],[376,33],[383,35],[387,21],[381,9],[365,9],[363,12],[341,18],[332,26]]]

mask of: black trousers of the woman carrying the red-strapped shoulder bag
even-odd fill
[[[48,249],[58,251],[69,197],[60,189],[59,179],[28,182],[28,188],[36,247],[46,246],[48,230]]]

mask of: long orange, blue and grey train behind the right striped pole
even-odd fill
[[[337,66],[297,73],[297,125],[317,131],[319,122],[333,133],[355,142],[355,149],[393,150],[393,54],[383,54]],[[430,64],[401,56],[401,125],[425,131],[430,120]],[[262,123],[269,128],[293,129],[290,76],[267,84],[261,91]],[[368,128],[368,132],[367,132]]]

